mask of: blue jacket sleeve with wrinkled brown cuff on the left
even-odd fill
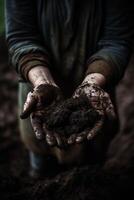
[[[41,43],[37,11],[33,0],[6,0],[6,39],[12,65],[27,79],[28,71],[48,66],[48,52]]]

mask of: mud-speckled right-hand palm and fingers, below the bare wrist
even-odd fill
[[[109,120],[115,120],[116,118],[114,106],[109,94],[105,92],[99,84],[95,83],[95,81],[92,82],[85,79],[74,92],[73,98],[78,98],[81,95],[85,95],[88,98],[89,103],[99,113],[100,120],[96,122],[91,131],[84,131],[70,136],[68,139],[69,144],[81,143],[86,139],[91,140],[102,130],[106,117]]]

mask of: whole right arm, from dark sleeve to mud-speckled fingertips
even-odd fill
[[[105,20],[97,51],[88,60],[88,69],[83,83],[76,89],[73,98],[85,95],[93,108],[101,115],[101,121],[90,132],[75,134],[69,144],[91,140],[99,134],[105,122],[116,122],[114,106],[109,94],[102,88],[116,84],[123,75],[131,53],[132,37],[129,8],[120,0],[106,0]],[[129,24],[130,23],[130,24]]]

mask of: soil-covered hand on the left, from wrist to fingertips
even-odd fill
[[[53,102],[59,102],[63,99],[60,89],[51,84],[41,84],[34,87],[33,92],[29,92],[24,110],[21,113],[21,119],[30,116],[31,124],[37,139],[45,139],[50,146],[62,147],[64,140],[62,136],[51,133],[43,123],[44,109]]]

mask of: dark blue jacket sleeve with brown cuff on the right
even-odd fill
[[[102,73],[108,82],[117,83],[123,75],[131,52],[131,9],[121,0],[105,2],[102,33],[97,51],[88,60],[87,74]]]

